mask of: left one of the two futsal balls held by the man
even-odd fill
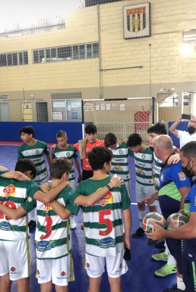
[[[144,231],[146,231],[148,233],[154,231],[154,226],[150,222],[151,220],[153,220],[158,225],[165,227],[166,220],[163,217],[163,215],[159,214],[157,212],[150,212],[150,213],[146,214],[146,216],[143,218],[143,230]]]

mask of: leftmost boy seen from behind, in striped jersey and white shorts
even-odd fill
[[[27,200],[32,201],[32,198],[45,204],[53,201],[66,185],[63,184],[63,187],[59,186],[48,194],[41,192],[31,180],[36,176],[36,168],[30,159],[18,160],[15,171],[0,172],[0,286],[1,291],[10,291],[11,280],[15,280],[20,287],[18,291],[29,292],[31,244],[28,220],[27,216],[23,216],[26,212],[19,217],[15,216],[15,212]],[[13,212],[13,216],[9,216],[6,210],[8,213]]]

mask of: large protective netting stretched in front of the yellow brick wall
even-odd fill
[[[3,6],[0,122],[65,122],[65,130],[66,122],[93,122],[101,139],[137,132],[146,141],[153,118],[167,125],[196,112],[193,4],[176,4],[182,14],[174,11],[171,22],[169,2],[162,2],[57,0],[53,8],[40,1],[39,15],[36,5],[30,14],[18,6],[21,21],[35,15],[31,25],[4,24]]]

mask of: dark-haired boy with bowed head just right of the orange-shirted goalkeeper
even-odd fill
[[[128,156],[131,155],[131,152],[126,143],[118,140],[114,133],[106,134],[104,142],[105,146],[110,148],[113,153],[110,172],[119,175],[122,180],[124,180],[125,187],[130,197]]]

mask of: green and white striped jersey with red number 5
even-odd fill
[[[101,180],[89,178],[76,190],[86,196],[109,183],[111,176]],[[83,206],[86,253],[93,256],[113,255],[124,248],[121,209],[130,206],[125,185],[114,188],[92,206]]]

